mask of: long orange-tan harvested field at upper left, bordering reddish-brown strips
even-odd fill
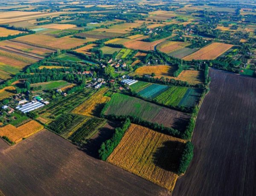
[[[32,34],[22,37],[17,37],[14,41],[31,44],[32,46],[39,46],[48,49],[70,49],[76,46],[81,46],[90,40],[84,40],[79,38],[67,37],[51,37],[47,35]]]

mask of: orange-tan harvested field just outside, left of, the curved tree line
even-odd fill
[[[140,40],[130,40],[127,41],[125,43],[123,43],[123,45],[126,48],[130,48],[130,49],[134,49],[134,50],[145,50],[145,51],[149,51],[149,50],[155,50],[155,46],[157,46],[157,44],[163,42],[166,39],[161,39],[161,40],[156,40],[153,42],[145,42],[145,41],[140,41]]]

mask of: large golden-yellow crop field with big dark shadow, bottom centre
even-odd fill
[[[173,190],[185,141],[131,124],[108,162]]]

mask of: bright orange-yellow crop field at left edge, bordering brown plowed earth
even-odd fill
[[[11,141],[17,143],[21,141],[23,138],[27,138],[38,131],[44,129],[44,126],[39,124],[37,121],[29,121],[19,127],[15,127],[11,124],[7,124],[4,127],[0,127],[0,136],[6,136]]]

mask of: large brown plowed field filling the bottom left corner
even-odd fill
[[[7,195],[166,195],[167,190],[88,156],[41,131],[15,146],[0,139],[0,190]]]

